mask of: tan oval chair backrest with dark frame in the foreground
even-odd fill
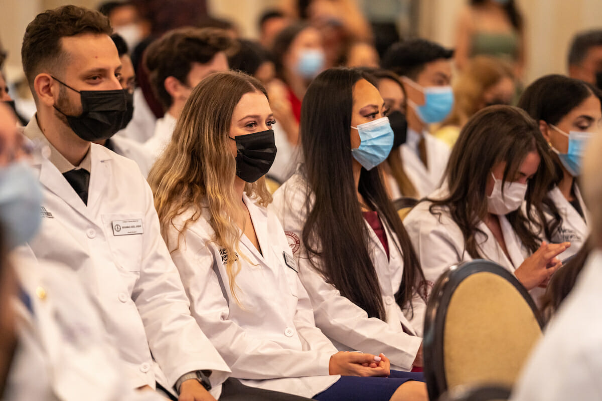
[[[488,260],[452,266],[433,287],[424,321],[430,399],[458,385],[512,387],[542,327],[529,292],[506,269]]]

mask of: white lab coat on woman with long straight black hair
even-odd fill
[[[412,311],[402,311],[395,301],[395,293],[403,276],[403,257],[396,246],[396,237],[385,225],[390,256],[387,259],[382,243],[370,225],[365,223],[370,233],[370,256],[386,311],[386,322],[383,322],[369,318],[362,308],[341,296],[312,268],[301,239],[306,218],[305,200],[308,197],[305,187],[302,176],[295,174],[276,191],[270,209],[276,213],[287,234],[299,264],[299,276],[314,308],[317,326],[339,350],[361,350],[375,355],[382,352],[396,369],[410,370],[422,343],[420,337],[426,304],[420,296],[415,296],[412,316]]]

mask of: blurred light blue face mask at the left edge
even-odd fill
[[[31,238],[42,220],[42,190],[31,167],[17,162],[0,168],[0,224],[8,249]]]

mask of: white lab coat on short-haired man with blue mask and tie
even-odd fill
[[[417,132],[408,129],[408,141],[399,147],[399,152],[402,153],[403,170],[418,191],[418,198],[426,197],[439,188],[450,157],[450,148],[445,142],[439,141],[426,131],[423,135],[428,168],[424,167],[418,154],[420,135]]]

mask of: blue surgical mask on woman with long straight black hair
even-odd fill
[[[352,129],[358,130],[361,141],[351,154],[366,170],[372,170],[381,164],[393,148],[393,129],[387,117],[382,117],[368,123],[359,124]]]

